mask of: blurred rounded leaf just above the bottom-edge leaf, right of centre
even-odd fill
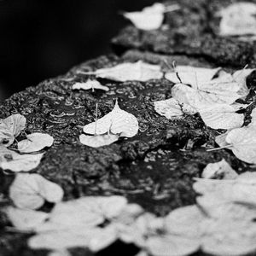
[[[165,218],[168,234],[196,238],[201,236],[201,222],[207,218],[195,205],[180,207],[170,212]]]

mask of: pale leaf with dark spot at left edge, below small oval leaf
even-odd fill
[[[29,172],[39,165],[43,155],[44,153],[18,154],[8,148],[0,147],[0,167],[12,172]]]

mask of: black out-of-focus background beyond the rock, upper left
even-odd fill
[[[0,101],[111,51],[134,11],[155,0],[0,0]]]

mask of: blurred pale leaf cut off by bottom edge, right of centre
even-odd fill
[[[146,248],[154,256],[185,256],[195,253],[200,241],[182,236],[151,236],[146,241]]]

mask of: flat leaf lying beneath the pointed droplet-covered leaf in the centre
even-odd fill
[[[80,143],[91,148],[99,148],[99,147],[107,146],[118,140],[119,140],[119,135],[111,134],[111,133],[102,134],[102,135],[81,134],[79,136]]]

